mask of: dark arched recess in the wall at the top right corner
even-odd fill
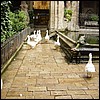
[[[80,28],[85,26],[84,25],[85,21],[96,21],[98,17],[99,17],[99,1],[80,1],[79,3]],[[89,25],[89,27],[98,27],[98,25],[91,24]]]

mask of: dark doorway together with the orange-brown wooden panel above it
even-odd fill
[[[33,10],[29,11],[32,28],[49,27],[50,11],[48,1],[34,1]]]

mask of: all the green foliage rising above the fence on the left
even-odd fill
[[[27,15],[24,11],[11,12],[10,1],[1,2],[1,42],[27,27]]]

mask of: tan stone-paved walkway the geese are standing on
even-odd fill
[[[67,64],[54,43],[26,44],[3,73],[1,99],[99,99],[99,63],[85,78],[86,63]]]

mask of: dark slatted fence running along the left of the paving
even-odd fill
[[[15,51],[24,42],[27,35],[30,33],[30,27],[24,29],[22,32],[15,34],[9,38],[6,42],[1,44],[1,69],[4,64],[11,58]]]

